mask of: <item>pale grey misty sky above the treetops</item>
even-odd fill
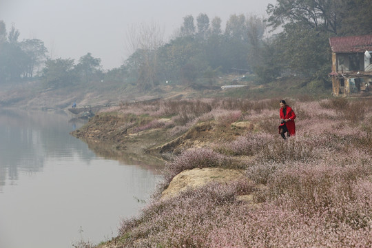
[[[231,14],[265,16],[276,0],[0,0],[0,20],[14,23],[23,39],[40,39],[52,59],[75,59],[87,52],[105,69],[117,68],[129,55],[125,35],[132,25],[156,23],[169,38],[183,17],[200,13],[225,22]]]

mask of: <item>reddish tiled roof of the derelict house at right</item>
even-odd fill
[[[372,34],[353,37],[329,38],[332,52],[365,52],[372,51]]]

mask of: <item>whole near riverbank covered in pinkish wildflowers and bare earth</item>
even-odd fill
[[[119,106],[74,132],[166,163],[152,201],[101,247],[368,247],[371,100],[286,99],[288,141],[278,100]]]

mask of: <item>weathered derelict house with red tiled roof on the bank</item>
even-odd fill
[[[372,34],[331,37],[332,94],[345,96],[369,90],[372,83]]]

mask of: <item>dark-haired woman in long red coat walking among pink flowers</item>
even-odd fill
[[[291,135],[296,135],[296,125],[294,119],[296,114],[292,108],[285,103],[284,100],[280,101],[280,126],[279,134],[285,139],[285,133],[287,132],[287,138]]]

